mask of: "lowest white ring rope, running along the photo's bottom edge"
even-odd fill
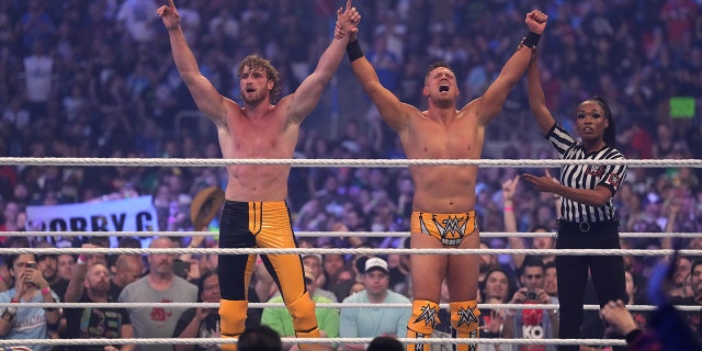
[[[281,338],[283,343],[370,343],[373,338]],[[421,344],[588,344],[588,346],[625,346],[622,339],[410,339],[397,338],[399,342]],[[234,344],[233,338],[148,338],[148,339],[11,339],[0,340],[0,347],[16,347],[24,344],[49,346],[99,346],[99,344]]]

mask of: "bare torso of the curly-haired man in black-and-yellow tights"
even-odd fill
[[[283,103],[257,117],[231,103],[226,124],[217,125],[225,159],[291,159],[299,124],[290,123]],[[225,197],[233,201],[284,201],[290,165],[229,165]]]

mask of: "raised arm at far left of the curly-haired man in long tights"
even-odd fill
[[[169,5],[159,8],[158,14],[168,30],[178,72],[185,86],[188,86],[188,90],[190,90],[197,107],[214,121],[222,121],[225,117],[225,101],[227,99],[222,97],[210,80],[200,72],[195,56],[190,49],[180,26],[180,15],[176,10],[173,0],[169,0]]]

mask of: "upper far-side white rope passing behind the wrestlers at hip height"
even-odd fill
[[[112,236],[165,236],[165,237],[211,237],[219,235],[219,231],[3,231],[3,236],[11,237],[112,237]],[[521,231],[480,231],[480,238],[541,238],[553,237],[556,233],[521,233]],[[385,238],[410,237],[409,231],[295,231],[296,237],[308,238]],[[632,231],[620,233],[620,238],[699,238],[702,233],[661,233],[661,231]]]

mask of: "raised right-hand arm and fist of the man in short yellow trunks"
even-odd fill
[[[546,27],[546,18],[543,12],[534,10],[526,14],[525,23],[531,32],[542,34]],[[520,47],[507,60],[499,76],[487,88],[483,97],[476,101],[480,124],[487,125],[502,110],[507,95],[524,75],[532,54],[533,52],[529,47]]]

